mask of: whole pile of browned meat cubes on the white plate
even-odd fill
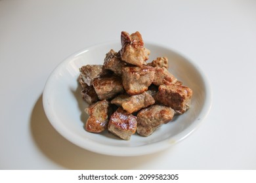
[[[108,129],[125,140],[136,132],[146,137],[188,110],[192,90],[169,73],[167,58],[146,63],[149,55],[138,31],[123,31],[119,52],[110,50],[103,65],[79,69],[81,94],[89,103],[87,131]]]

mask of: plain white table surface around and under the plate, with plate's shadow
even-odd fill
[[[179,144],[114,157],[67,141],[45,116],[48,76],[70,54],[140,31],[192,59],[213,104]],[[0,169],[256,169],[256,1],[0,1]]]

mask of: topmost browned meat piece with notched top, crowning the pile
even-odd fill
[[[121,32],[121,59],[127,63],[142,67],[150,54],[150,50],[144,48],[144,42],[137,31],[131,35]]]

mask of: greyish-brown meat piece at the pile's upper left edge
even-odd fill
[[[106,75],[108,71],[104,70],[102,65],[84,65],[79,68],[81,79],[89,86],[93,85],[93,79]]]

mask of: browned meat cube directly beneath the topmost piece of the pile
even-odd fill
[[[152,84],[154,75],[154,67],[148,65],[123,67],[123,88],[129,95],[143,93]]]

